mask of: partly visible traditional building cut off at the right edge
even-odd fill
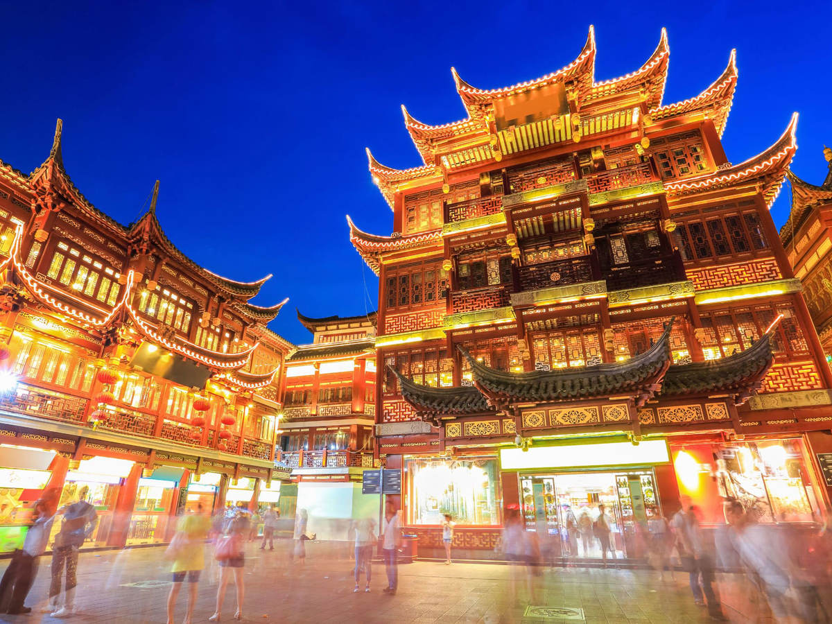
[[[829,173],[820,186],[801,180],[792,171],[791,214],[780,239],[803,282],[806,305],[820,334],[827,360],[832,354],[832,149],[825,147]]]

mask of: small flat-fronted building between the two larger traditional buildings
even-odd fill
[[[379,497],[362,494],[374,465],[376,314],[298,319],[313,335],[286,361],[285,422],[275,460],[292,471],[281,513],[305,509],[310,532],[345,540],[354,519],[378,518]]]

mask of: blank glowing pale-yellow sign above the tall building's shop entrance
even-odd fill
[[[598,444],[567,444],[564,446],[532,446],[501,448],[500,465],[503,470],[530,468],[591,468],[594,466],[623,466],[628,464],[667,463],[670,453],[666,440],[605,442]]]

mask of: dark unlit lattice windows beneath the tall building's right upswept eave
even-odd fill
[[[706,260],[714,257],[756,255],[768,250],[760,215],[756,210],[742,210],[753,201],[714,206],[702,210],[697,219],[685,219],[673,231],[673,240],[682,260]],[[720,212],[722,214],[713,214]]]

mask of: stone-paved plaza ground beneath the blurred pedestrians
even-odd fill
[[[69,622],[166,622],[165,603],[170,575],[161,558],[163,548],[83,553],[78,567],[79,613]],[[275,551],[247,549],[245,567],[246,622],[708,622],[696,607],[687,575],[676,572],[665,582],[648,570],[584,567],[544,570],[533,577],[534,599],[527,595],[524,568],[501,564],[415,562],[399,566],[399,592],[386,585],[384,566],[373,567],[372,591],[353,593],[346,547],[310,542],[305,566],[290,562],[290,542]],[[4,570],[6,561],[0,561]],[[49,581],[49,557],[42,558],[27,604],[42,607]],[[511,595],[512,572],[518,574],[518,595]],[[203,572],[194,622],[214,612],[216,567]],[[363,582],[362,582],[363,588]],[[733,575],[721,575],[726,617],[731,622],[770,622],[758,609],[753,592]],[[185,610],[180,594],[176,622]],[[550,607],[529,610],[532,607]],[[551,607],[582,610],[569,612]],[[235,597],[229,587],[222,620],[233,622]],[[37,611],[37,609],[36,609]],[[534,616],[534,617],[532,617]],[[541,616],[549,616],[542,618]],[[5,618],[5,619],[3,619]],[[2,622],[61,622],[40,612],[0,616]]]

